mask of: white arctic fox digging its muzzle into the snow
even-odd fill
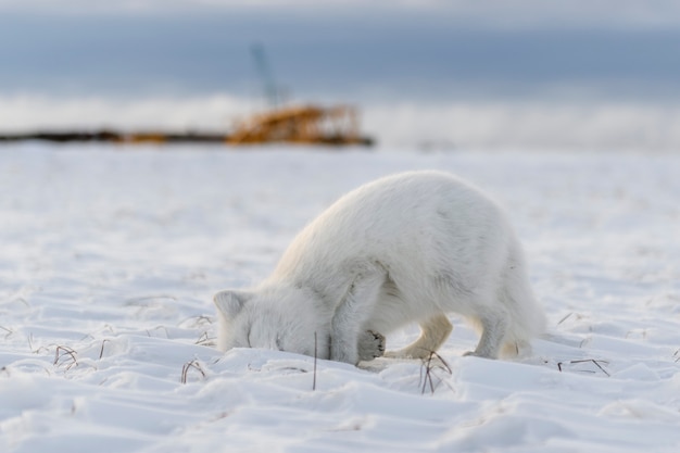
[[[503,211],[442,172],[369,183],[308,224],[274,273],[215,294],[218,348],[266,348],[350,364],[383,355],[408,323],[421,334],[386,356],[426,357],[457,313],[481,332],[473,354],[495,358],[544,327],[521,248]]]

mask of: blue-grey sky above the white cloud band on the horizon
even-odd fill
[[[319,4],[320,3],[320,4]],[[680,100],[673,1],[0,1],[0,96]]]

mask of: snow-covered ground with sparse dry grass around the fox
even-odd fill
[[[2,452],[680,451],[678,154],[0,151]],[[531,355],[462,357],[456,317],[430,373],[211,347],[216,290],[414,168],[508,207],[550,319]]]

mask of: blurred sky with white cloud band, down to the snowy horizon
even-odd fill
[[[665,151],[679,56],[670,0],[0,0],[0,131],[229,130],[275,87],[390,149]]]

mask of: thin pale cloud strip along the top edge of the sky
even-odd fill
[[[344,16],[418,15],[445,17],[452,26],[625,27],[680,25],[680,2],[673,0],[0,0],[0,11],[39,14],[219,14],[277,12]]]

